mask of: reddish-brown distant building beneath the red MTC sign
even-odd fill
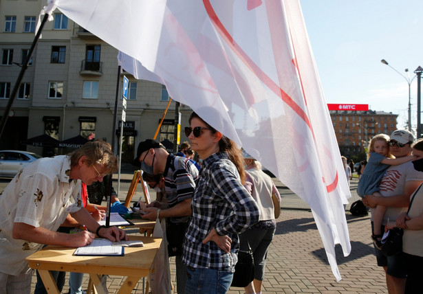
[[[367,150],[371,137],[391,135],[397,129],[398,115],[384,111],[329,111],[340,154],[357,156]]]

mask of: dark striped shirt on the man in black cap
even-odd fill
[[[198,170],[186,157],[169,154],[164,168],[164,190],[169,207],[191,199],[198,180]],[[173,223],[184,223],[189,216],[171,218]]]

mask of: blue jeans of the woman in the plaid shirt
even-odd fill
[[[187,267],[186,294],[224,294],[232,283],[233,273],[217,269]]]

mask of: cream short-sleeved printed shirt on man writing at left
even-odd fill
[[[21,273],[27,256],[40,244],[12,238],[14,223],[56,231],[69,211],[83,207],[80,181],[70,180],[69,157],[60,155],[30,163],[0,194],[0,271]],[[75,204],[72,204],[75,203]]]

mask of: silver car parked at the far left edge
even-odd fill
[[[41,158],[33,152],[0,150],[0,177],[14,177],[32,161]]]

